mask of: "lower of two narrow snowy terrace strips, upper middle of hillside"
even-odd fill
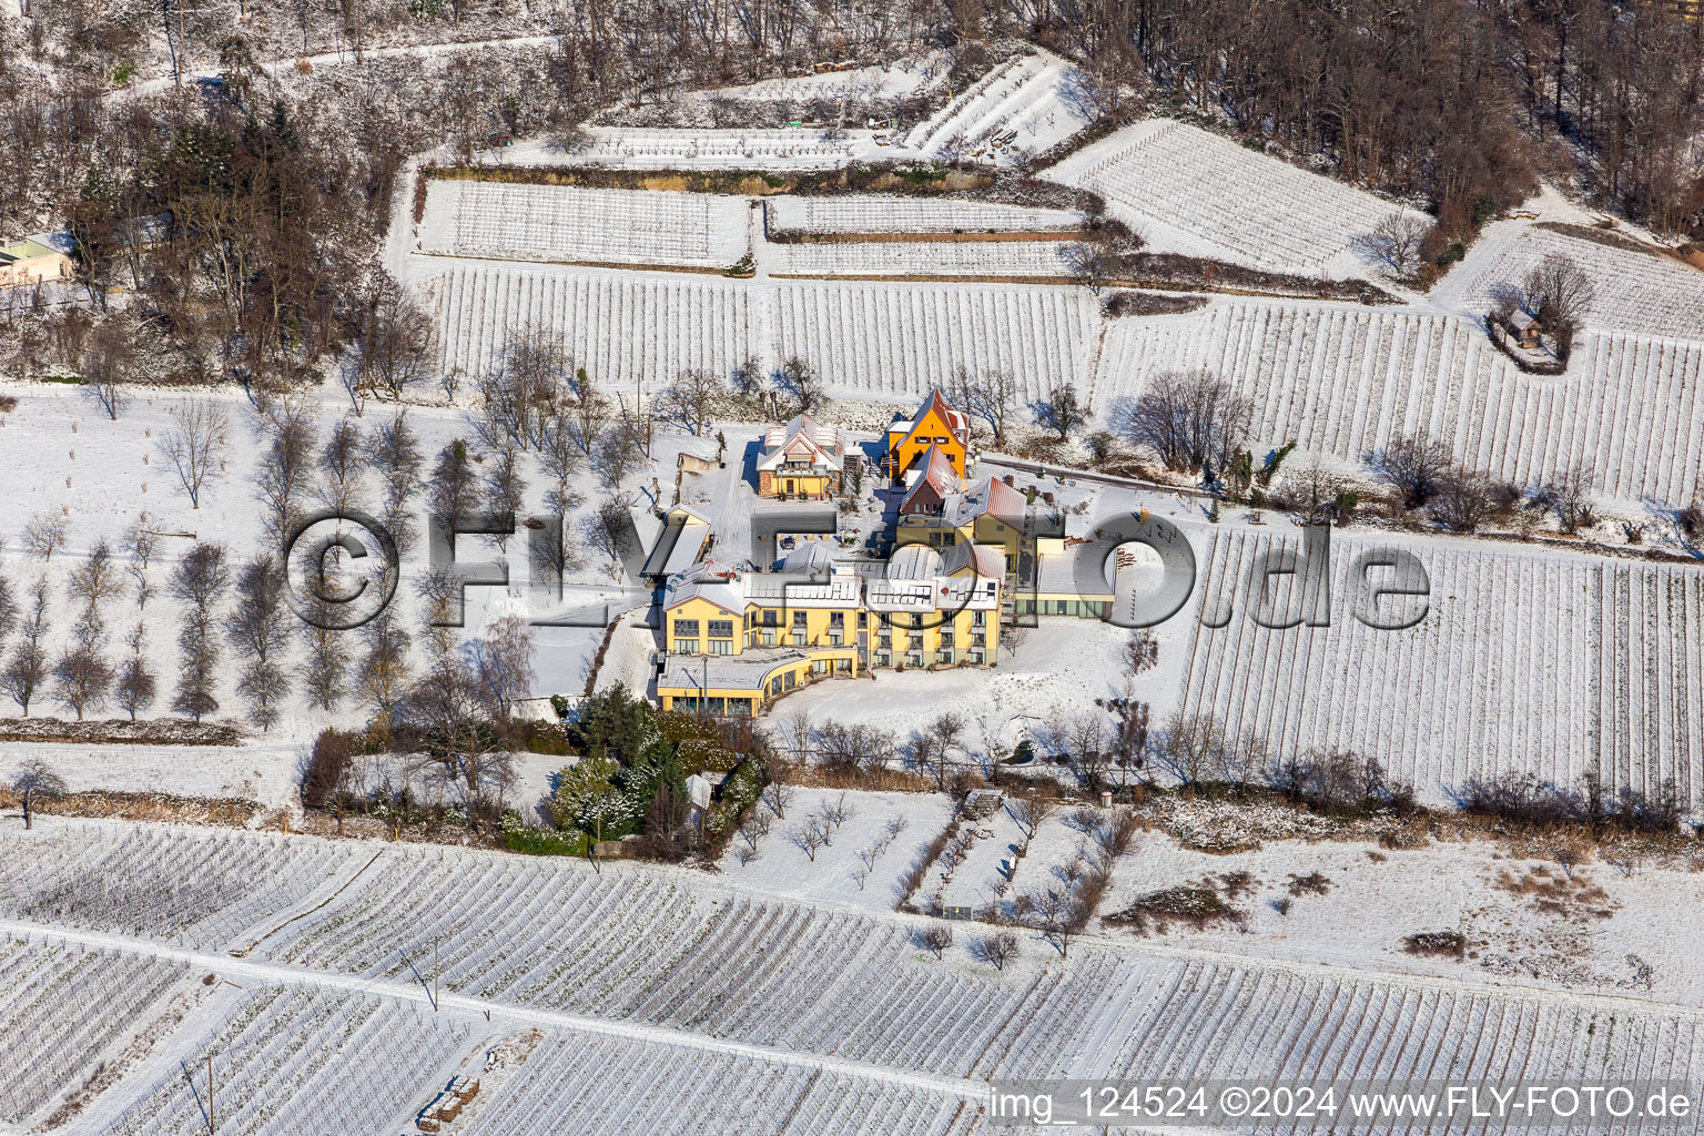
[[[1077,249],[1072,242],[1045,240],[775,245],[770,273],[818,278],[982,276],[1068,281]]]

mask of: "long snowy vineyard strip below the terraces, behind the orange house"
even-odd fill
[[[726,375],[748,356],[770,366],[801,356],[835,395],[895,400],[959,364],[1010,370],[1029,399],[1058,382],[1085,388],[1099,320],[1084,291],[1017,284],[741,284],[458,266],[429,291],[446,370],[479,373],[511,329],[533,324],[559,330],[598,382]]]

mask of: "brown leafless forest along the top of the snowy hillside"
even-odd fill
[[[1016,39],[1077,60],[1118,116],[1195,111],[1411,194],[1440,249],[1540,175],[1658,230],[1704,227],[1704,20],[1672,3],[19,7],[0,24],[0,232],[68,228],[83,283],[138,300],[104,344],[87,312],[15,322],[0,366],[20,376],[56,359],[291,387],[351,346],[394,366],[412,317],[373,254],[406,155],[666,111],[821,58],[951,48],[970,80]]]

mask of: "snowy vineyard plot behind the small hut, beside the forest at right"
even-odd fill
[[[1704,273],[1658,255],[1523,225],[1472,249],[1438,286],[1436,300],[1489,312],[1505,290],[1520,290],[1547,255],[1564,255],[1592,281],[1585,325],[1639,336],[1704,339]]]

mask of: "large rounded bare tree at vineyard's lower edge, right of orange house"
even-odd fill
[[[1121,416],[1125,436],[1179,473],[1223,470],[1244,446],[1254,404],[1212,371],[1167,371]]]

